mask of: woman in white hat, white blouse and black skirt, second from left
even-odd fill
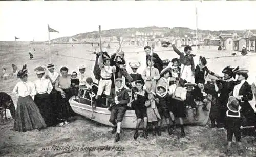
[[[52,83],[49,79],[44,78],[46,68],[38,66],[34,69],[38,79],[35,81],[36,95],[34,102],[40,110],[47,126],[57,124],[55,115],[53,113],[53,105],[50,99],[50,93],[53,89]]]

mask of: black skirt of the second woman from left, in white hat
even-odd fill
[[[57,124],[57,119],[53,111],[53,104],[48,93],[36,94],[34,99],[35,104],[40,110],[47,126]]]

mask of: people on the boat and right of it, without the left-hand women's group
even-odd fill
[[[123,52],[113,54],[114,58],[120,57],[120,62],[113,60],[113,56],[108,57],[106,52],[97,54],[103,63],[99,63],[103,66],[100,65],[101,71],[98,73],[100,92],[97,96],[103,92],[110,99],[110,122],[114,125],[112,133],[116,133],[115,141],[120,140],[120,125],[126,109],[134,109],[137,116],[134,139],[138,138],[138,128],[142,121],[144,138],[147,138],[147,123],[152,123],[153,134],[160,135],[163,119],[167,122],[168,133],[172,134],[176,128],[175,117],[180,120],[181,136],[184,137],[183,119],[187,108],[195,108],[195,120],[198,120],[199,112],[210,111],[211,127],[227,130],[228,150],[231,148],[233,134],[241,146],[241,133],[243,136],[255,133],[255,110],[249,103],[253,93],[246,81],[248,70],[226,66],[222,71],[224,77],[220,77],[207,68],[207,60],[202,56],[195,68],[195,55],[191,54],[190,46],[186,46],[182,53],[173,45],[173,50],[180,58],[173,58],[170,62],[161,60],[149,46],[144,47],[144,50],[147,67],[142,74],[138,74],[140,63],[130,62],[133,72],[129,76],[132,79],[126,77]],[[111,66],[112,62],[114,64]],[[125,74],[126,87],[122,86],[122,75],[117,75],[117,71]],[[211,78],[210,81],[205,80],[207,76]],[[117,78],[115,82],[112,81],[113,77]],[[131,101],[126,88],[132,91]],[[209,103],[210,110],[207,108]],[[202,110],[199,110],[200,105],[203,106]]]

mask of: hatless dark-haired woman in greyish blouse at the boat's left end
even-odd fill
[[[62,68],[60,68],[61,76],[57,78],[55,83],[55,89],[58,91],[57,118],[60,120],[59,126],[68,124],[68,119],[74,115],[74,111],[69,104],[69,99],[71,98],[72,94],[70,91],[71,78],[68,76],[68,71],[69,69],[67,66],[62,66]]]

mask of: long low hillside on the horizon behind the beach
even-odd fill
[[[254,31],[254,30],[251,30]],[[174,37],[184,37],[184,35],[191,35],[196,32],[196,30],[185,28],[185,27],[157,27],[157,26],[150,26],[150,27],[143,27],[143,28],[121,28],[121,29],[110,29],[110,30],[104,30],[101,31],[102,37],[112,37],[112,36],[120,36],[122,35],[124,38],[130,38],[132,34],[135,35],[136,32],[143,32],[143,33],[161,33],[165,37],[166,36],[174,36]],[[199,30],[199,34],[201,34],[203,37],[207,36],[209,33],[214,36],[218,36],[221,33],[237,33],[239,36],[242,36],[246,30],[221,30],[221,31],[210,31],[210,30]],[[87,33],[80,33],[76,34],[74,36],[70,36],[72,38],[78,39],[78,41],[81,41],[86,38],[95,38],[97,39],[98,31],[94,32],[87,32]],[[60,37],[57,39],[53,39],[52,41],[56,42],[68,42],[70,37]],[[156,35],[156,38],[160,38],[160,35]]]

